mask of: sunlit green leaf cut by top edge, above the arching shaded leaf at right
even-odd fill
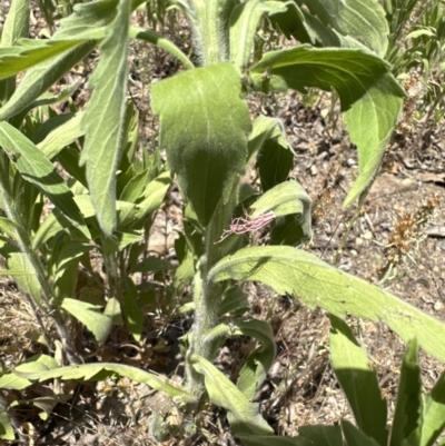
[[[389,28],[377,1],[307,0],[304,3],[326,27],[356,38],[382,58],[386,54]]]

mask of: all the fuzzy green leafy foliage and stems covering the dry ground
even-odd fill
[[[98,0],[76,6],[72,13],[63,3],[66,18],[53,36],[29,40],[28,6],[14,0],[0,48],[0,252],[7,260],[0,274],[12,275],[27,298],[51,315],[58,339],[50,339],[50,347],[58,361],[40,356],[14,371],[3,370],[0,387],[22,390],[34,380],[126,376],[170,398],[169,409],[155,414],[150,423],[152,436],[161,440],[191,435],[211,402],[227,410],[234,433],[246,445],[339,446],[345,440],[348,446],[386,446],[389,438],[390,446],[432,446],[445,427],[444,378],[424,403],[417,344],[411,339],[416,337],[421,347],[444,361],[445,347],[437,339],[445,338],[445,325],[286,246],[310,238],[310,199],[297,181],[287,181],[294,153],[280,121],[258,117],[251,122],[245,101],[251,91],[334,90],[358,150],[359,175],[345,200],[345,206],[352,205],[370,188],[402,108],[404,90],[384,59],[386,54],[392,60],[389,29],[399,32],[404,20],[397,1],[385,2],[386,20],[377,0],[178,0],[168,10],[165,2],[150,3],[155,26],[175,9],[184,12],[194,34],[192,63],[168,39],[130,27],[131,12],[141,1]],[[55,10],[41,3],[51,28]],[[429,16],[439,39],[439,9]],[[299,43],[269,52],[255,48],[265,19]],[[426,59],[436,58],[439,47],[422,40],[434,34],[431,23],[413,32],[413,42],[425,43]],[[159,148],[152,156],[138,146],[138,113],[127,101],[130,39],[156,44],[187,69],[151,86],[151,107],[160,120]],[[86,110],[70,102],[70,111],[57,116],[50,105],[70,90],[59,96],[46,91],[96,47],[100,59],[90,77]],[[14,76],[23,70],[16,89]],[[160,161],[164,149],[168,168]],[[257,169],[260,187],[240,184],[248,168]],[[175,245],[179,266],[170,284],[166,275],[172,265],[147,256],[147,245],[172,175],[186,206]],[[55,208],[40,221],[49,201]],[[250,214],[244,215],[244,209]],[[254,240],[249,232],[269,224],[270,244],[284,246],[246,247]],[[103,278],[91,266],[91,252],[103,264]],[[81,288],[81,272],[96,279],[95,288]],[[161,283],[162,291],[144,291],[148,274]],[[333,367],[357,426],[342,422],[305,426],[295,438],[274,436],[254,403],[275,357],[274,333],[268,321],[243,316],[248,299],[237,281],[246,280],[333,315]],[[181,307],[195,313],[192,331],[182,345],[184,385],[120,364],[78,364],[73,319],[99,345],[107,343],[113,325],[142,341],[147,307],[172,314],[172,296],[187,296],[190,285],[192,301]],[[376,374],[352,330],[338,319],[347,315],[382,320],[409,341],[389,434]],[[211,361],[227,337],[241,335],[258,344],[253,344],[234,384]],[[59,367],[59,359],[69,365]],[[44,417],[56,397],[32,404]],[[9,409],[0,412],[4,439],[13,437]],[[170,423],[174,413],[187,423]]]

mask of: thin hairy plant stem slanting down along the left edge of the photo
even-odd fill
[[[51,305],[51,300],[56,297],[56,295],[52,286],[47,279],[44,267],[41,264],[38,254],[32,249],[32,240],[26,230],[28,225],[23,218],[21,206],[19,202],[14,202],[14,200],[12,199],[12,190],[9,182],[9,158],[4,152],[2,152],[0,153],[0,194],[3,199],[3,210],[7,217],[17,225],[14,240],[17,241],[21,252],[28,258],[29,264],[34,270],[37,280],[39,281],[42,300],[52,314],[56,330],[67,353],[68,361],[70,364],[79,364],[76,348],[65,326],[62,314],[60,313],[59,308],[52,307]],[[37,320],[39,320],[37,316],[36,318]]]

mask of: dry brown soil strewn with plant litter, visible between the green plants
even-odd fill
[[[41,18],[37,8],[33,12],[33,26],[38,28]],[[31,31],[37,36],[39,30],[34,28]],[[181,28],[175,36],[177,43],[187,51],[184,42],[188,30]],[[67,83],[80,82],[75,93],[77,105],[88,100],[89,92],[85,86],[93,65],[95,57],[91,57],[65,78]],[[149,86],[178,69],[169,56],[144,43],[134,43],[129,93],[140,111],[142,147],[152,149],[157,142],[157,121],[149,109]],[[249,106],[253,116],[264,112],[281,119],[295,151],[295,168],[290,177],[300,181],[314,204],[314,237],[305,249],[333,261],[355,210],[343,209],[342,202],[357,176],[357,151],[350,145],[338,110],[332,107],[328,93],[314,92],[269,98],[257,96],[249,99]],[[403,117],[406,126],[403,131],[399,129],[387,149],[382,172],[347,237],[337,266],[383,286],[379,274],[388,260],[387,245],[397,219],[406,215],[416,216],[428,199],[436,197],[434,212],[416,232],[409,256],[405,256],[384,286],[409,304],[445,320],[445,122],[442,119],[437,123],[425,125],[423,117],[417,122]],[[180,204],[180,197],[172,188],[155,220],[150,252],[160,257],[172,256],[174,228],[181,225]],[[267,238],[267,230],[261,237]],[[246,291],[249,294],[250,315],[256,318],[269,315],[276,334],[277,357],[257,395],[261,413],[276,433],[297,435],[301,425],[337,424],[340,419],[352,419],[329,364],[328,315],[320,309],[309,310],[290,296],[275,296],[258,285],[248,284]],[[6,368],[13,367],[30,355],[46,351],[36,341],[40,328],[30,316],[29,304],[13,280],[4,277],[0,283],[0,359]],[[125,347],[110,341],[108,348],[101,350],[101,359],[127,364],[131,360],[138,366],[180,379],[177,367],[181,357],[177,339],[188,330],[191,320],[184,317],[172,319],[161,314],[151,315],[149,319],[146,336],[139,345],[129,340],[132,346]],[[348,323],[366,346],[390,412],[394,409],[405,345],[383,324],[354,318],[349,318]],[[120,335],[115,338],[123,344]],[[249,340],[245,338],[228,341],[220,351],[217,365],[234,375],[239,370],[249,346]],[[424,353],[421,354],[421,365],[423,384],[428,390],[444,366]],[[155,444],[148,434],[150,407],[165,402],[142,387],[128,380],[81,386],[66,383],[60,400],[48,419],[40,419],[38,412],[29,406],[19,406],[16,422],[23,433],[22,443],[10,444]],[[37,385],[24,392],[21,398],[50,394],[49,385]],[[3,397],[13,400],[17,395],[4,393]],[[188,443],[172,439],[165,444],[233,446],[239,443],[231,436],[224,412],[209,407],[201,435]]]

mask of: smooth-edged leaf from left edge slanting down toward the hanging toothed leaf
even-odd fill
[[[71,190],[57,174],[51,161],[27,137],[8,122],[0,122],[0,146],[18,157],[16,166],[27,181],[34,185],[68,218],[77,222],[79,228],[83,226]]]

